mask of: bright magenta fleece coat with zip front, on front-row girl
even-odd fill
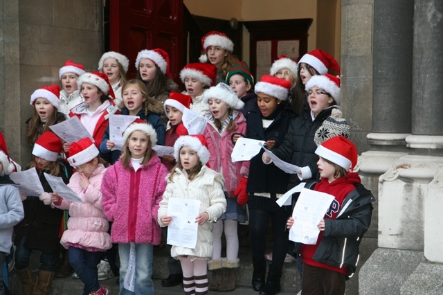
[[[114,222],[114,243],[160,244],[161,229],[157,224],[159,203],[166,188],[168,170],[154,155],[138,168],[127,170],[118,160],[105,172],[102,182],[102,205],[107,220]]]

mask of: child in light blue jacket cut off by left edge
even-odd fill
[[[3,265],[6,256],[10,254],[12,247],[12,232],[14,226],[24,217],[23,204],[20,193],[15,183],[9,178],[10,172],[15,170],[0,132],[0,294],[6,293],[8,288],[3,285]],[[6,268],[8,269],[8,268]]]

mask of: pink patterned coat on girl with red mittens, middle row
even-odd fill
[[[235,133],[246,134],[246,119],[244,115],[235,111],[235,124],[237,128],[233,131],[227,132],[226,129],[219,134],[217,127],[215,127],[213,120],[208,120],[204,136],[208,142],[208,150],[210,158],[208,161],[209,167],[216,172],[222,173],[226,183],[226,190],[230,197],[233,197],[234,190],[239,184],[240,178],[248,175],[248,165],[245,162],[235,162],[230,158],[233,153],[234,145],[231,137]]]

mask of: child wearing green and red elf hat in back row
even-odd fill
[[[234,64],[228,75],[226,84],[237,93],[237,97],[244,102],[244,107],[240,109],[245,118],[248,118],[249,110],[257,105],[257,97],[253,91],[254,78],[251,75],[248,64],[239,62]]]

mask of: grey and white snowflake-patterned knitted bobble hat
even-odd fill
[[[343,114],[339,109],[332,109],[331,116],[323,121],[323,124],[314,134],[314,142],[317,146],[334,136],[349,137],[351,127],[347,125],[346,120],[342,116]]]

